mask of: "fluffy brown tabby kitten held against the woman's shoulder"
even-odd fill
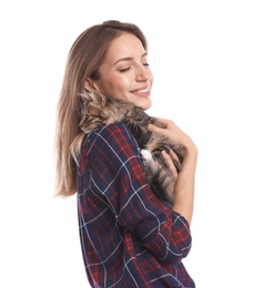
[[[89,96],[91,101],[88,102],[88,107],[82,111],[80,127],[87,132],[87,128],[83,127],[84,125],[88,125],[91,131],[98,124],[110,124],[113,122],[125,124],[140,147],[144,175],[152,192],[160,200],[173,205],[176,179],[161,156],[161,152],[166,151],[179,173],[185,155],[184,147],[174,144],[161,133],[150,132],[148,130],[150,123],[159,127],[163,127],[163,124],[156,117],[150,116],[142,107],[122,100],[105,97],[97,91],[90,92]],[[91,103],[100,104],[92,104],[89,109]],[[176,154],[178,158],[173,157],[171,150]]]

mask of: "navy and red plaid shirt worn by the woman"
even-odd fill
[[[182,264],[189,224],[150,189],[124,124],[100,125],[84,138],[78,214],[91,287],[195,287]]]

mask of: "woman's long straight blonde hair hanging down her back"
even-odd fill
[[[92,105],[102,105],[103,95],[94,99],[84,90],[88,78],[98,80],[99,68],[103,63],[107,50],[111,42],[129,32],[136,35],[148,49],[143,32],[135,24],[110,20],[88,28],[74,41],[70,49],[63,83],[57,107],[55,127],[55,195],[71,196],[77,192],[77,155],[85,131],[83,111],[89,113]]]

